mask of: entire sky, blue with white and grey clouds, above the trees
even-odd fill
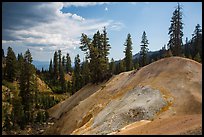
[[[202,3],[181,2],[184,37],[191,38],[196,24],[202,25]],[[30,49],[34,60],[48,61],[55,50],[70,53],[72,62],[84,53],[81,33],[92,38],[97,30],[107,28],[111,44],[110,59],[124,58],[124,43],[130,33],[133,54],[140,51],[143,31],[149,40],[149,50],[161,49],[168,43],[168,28],[176,2],[66,2],[66,3],[3,3],[2,47],[11,46],[17,53]]]

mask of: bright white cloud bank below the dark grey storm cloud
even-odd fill
[[[84,17],[72,14],[62,13],[60,9],[63,6],[90,6],[104,3],[43,3],[36,5],[32,10],[35,14],[44,14],[45,17],[51,18],[46,22],[39,22],[20,29],[11,29],[9,34],[18,39],[2,40],[2,44],[21,42],[23,47],[28,47],[35,52],[34,58],[40,59],[41,52],[53,52],[61,49],[66,53],[70,49],[76,49],[80,45],[80,36],[82,33],[93,35],[97,30],[102,30],[104,26],[111,30],[119,30],[122,23],[113,20],[85,19]],[[41,12],[39,12],[41,11]],[[36,15],[38,16],[38,15]],[[41,15],[39,15],[41,16]],[[48,18],[48,19],[49,19]],[[16,23],[17,24],[17,23]],[[32,46],[31,46],[32,45]],[[19,44],[20,46],[20,44]],[[40,51],[40,52],[39,52]],[[43,55],[43,57],[46,57]],[[46,57],[49,60],[50,56]],[[40,59],[42,60],[42,59]]]

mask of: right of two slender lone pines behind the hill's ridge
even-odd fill
[[[142,35],[142,41],[141,41],[141,50],[140,50],[140,58],[141,58],[141,66],[145,66],[147,65],[147,52],[148,52],[148,40],[147,40],[147,36],[146,36],[146,33],[145,31],[143,32],[143,35]]]

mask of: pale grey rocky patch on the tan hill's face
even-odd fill
[[[149,86],[137,87],[111,101],[95,117],[93,131],[86,134],[109,134],[135,121],[152,120],[167,104],[160,91]]]

